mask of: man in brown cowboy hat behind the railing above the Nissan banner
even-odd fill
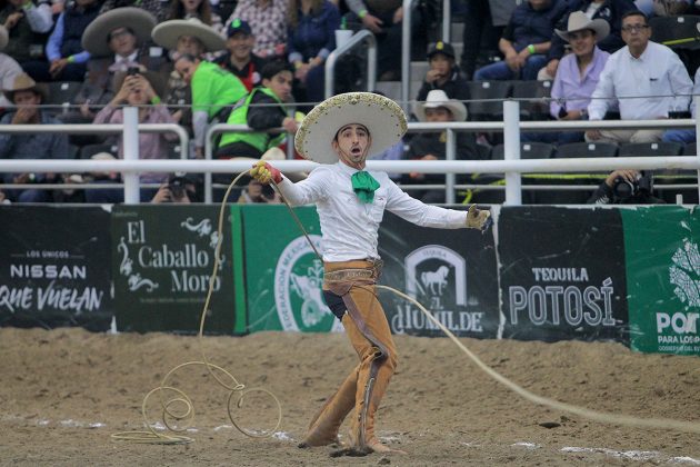
[[[39,110],[47,98],[46,90],[29,74],[18,74],[10,86],[3,89],[17,110],[0,119],[2,125],[58,125],[60,121]],[[67,159],[68,136],[64,133],[0,133],[0,159]],[[6,183],[54,182],[56,173],[3,173]],[[7,190],[10,199],[19,202],[49,202],[50,190],[14,189]]]

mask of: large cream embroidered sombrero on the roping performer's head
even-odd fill
[[[369,130],[372,143],[368,156],[396,145],[407,130],[406,113],[398,103],[373,92],[347,92],[326,99],[301,121],[294,147],[304,158],[319,163],[336,163],[331,147],[338,131],[350,123]]]

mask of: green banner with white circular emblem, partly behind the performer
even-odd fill
[[[243,206],[248,330],[328,332],[342,329],[321,294],[323,262],[286,206]],[[296,208],[316,249],[314,208]]]

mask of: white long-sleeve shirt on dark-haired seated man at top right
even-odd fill
[[[637,59],[626,46],[608,59],[588,116],[590,120],[602,120],[618,100],[622,120],[668,117],[670,111],[688,110],[691,92],[690,76],[671,49],[650,41]]]

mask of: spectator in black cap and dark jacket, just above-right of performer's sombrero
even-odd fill
[[[426,100],[428,92],[433,89],[443,90],[450,99],[461,101],[469,99],[469,88],[454,63],[454,48],[451,44],[441,40],[436,42],[428,52],[428,66],[430,68],[416,100]]]

